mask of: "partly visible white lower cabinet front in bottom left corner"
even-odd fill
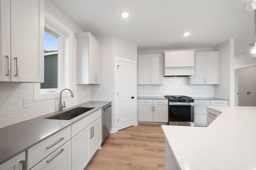
[[[1,164],[0,170],[26,170],[25,152]]]

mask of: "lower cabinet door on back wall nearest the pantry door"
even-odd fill
[[[139,104],[138,121],[153,121],[153,105]]]

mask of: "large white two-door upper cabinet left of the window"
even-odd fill
[[[44,81],[44,0],[1,0],[0,81]]]

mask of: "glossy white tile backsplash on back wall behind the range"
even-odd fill
[[[162,85],[138,85],[138,96],[213,97],[214,85],[188,85],[187,77],[164,77]]]

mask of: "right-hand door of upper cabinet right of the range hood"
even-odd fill
[[[220,56],[216,54],[205,54],[205,77],[206,84],[220,84]]]

